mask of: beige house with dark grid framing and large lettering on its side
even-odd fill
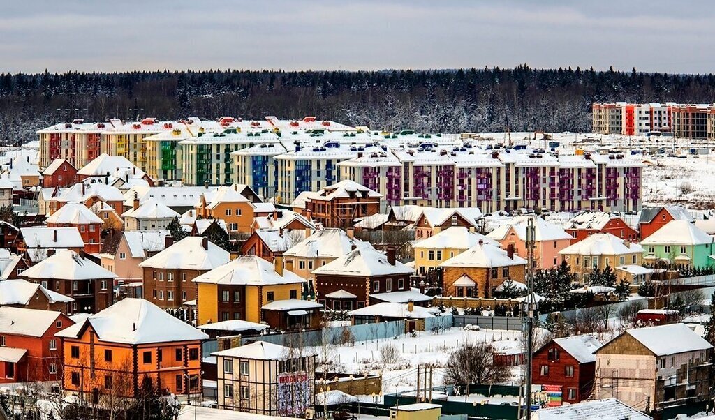
[[[315,354],[301,347],[255,341],[212,355],[219,409],[306,418],[315,405]]]

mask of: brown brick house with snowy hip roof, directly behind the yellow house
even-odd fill
[[[207,238],[187,236],[139,263],[144,297],[162,309],[196,299],[193,279],[226,264],[230,254]]]

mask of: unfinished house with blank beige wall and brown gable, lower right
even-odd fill
[[[646,411],[706,401],[711,351],[685,324],[628,329],[596,350],[594,397]]]

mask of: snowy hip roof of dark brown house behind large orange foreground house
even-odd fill
[[[91,280],[114,279],[117,274],[94,261],[82,258],[70,249],[58,249],[53,256],[40,261],[20,274],[28,279]]]

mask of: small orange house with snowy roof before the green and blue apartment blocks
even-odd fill
[[[229,234],[250,234],[254,218],[273,214],[275,207],[270,203],[254,203],[241,194],[238,184],[220,186],[201,194],[194,206],[199,219],[222,219]]]

